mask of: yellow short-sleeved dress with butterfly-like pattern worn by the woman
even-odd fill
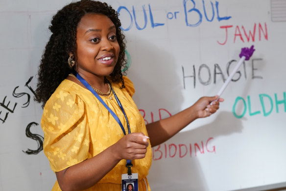
[[[143,117],[131,97],[135,92],[133,83],[127,77],[123,79],[125,88],[120,89],[121,83],[112,83],[112,87],[125,110],[131,133],[147,135]],[[111,96],[111,100],[104,96],[101,98],[117,114],[128,134],[124,115],[112,93]],[[70,80],[61,82],[49,98],[41,126],[45,136],[44,153],[54,172],[94,157],[124,136],[118,122],[97,98]],[[132,173],[139,176],[139,191],[150,191],[146,176],[151,166],[151,155],[149,142],[145,158],[132,161]],[[121,174],[127,173],[125,164],[126,160],[121,160],[87,191],[121,191]],[[60,191],[57,182],[52,191]]]

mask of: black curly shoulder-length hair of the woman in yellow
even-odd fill
[[[50,39],[42,55],[38,72],[38,84],[35,91],[35,101],[43,103],[48,101],[58,85],[73,72],[68,66],[69,53],[76,55],[77,25],[81,18],[88,13],[106,15],[116,27],[117,41],[120,51],[117,64],[110,74],[112,82],[122,82],[121,69],[126,68],[125,42],[119,14],[107,3],[94,0],[80,0],[72,2],[59,10],[52,18]]]

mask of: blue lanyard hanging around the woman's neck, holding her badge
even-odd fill
[[[126,133],[125,133],[124,127],[123,127],[123,125],[122,125],[120,119],[118,118],[118,116],[113,112],[113,110],[111,110],[111,109],[106,105],[106,103],[105,103],[105,102],[101,99],[101,97],[95,92],[95,90],[92,88],[92,86],[91,86],[88,82],[86,82],[86,80],[84,80],[77,72],[75,72],[75,76],[76,76],[76,78],[77,78],[88,90],[90,90],[90,91],[95,95],[95,97],[101,102],[101,104],[110,112],[110,114],[111,114],[111,115],[114,117],[114,119],[118,122],[118,124],[119,124],[119,126],[121,127],[121,129],[122,129],[122,131],[123,131],[123,134],[124,134],[124,136],[125,136]],[[110,86],[111,86],[111,84],[110,84]],[[124,109],[123,109],[123,107],[122,107],[122,105],[121,105],[121,103],[120,103],[120,101],[119,101],[119,99],[118,99],[118,97],[117,97],[115,91],[113,90],[112,86],[111,86],[111,90],[112,90],[112,92],[113,92],[113,94],[114,94],[114,97],[115,97],[115,99],[116,99],[116,101],[117,101],[117,103],[118,103],[118,105],[119,105],[119,108],[121,109],[121,111],[122,111],[122,113],[123,113],[123,115],[124,115],[124,117],[125,117],[126,124],[127,124],[127,128],[128,128],[128,134],[130,134],[130,133],[131,133],[131,130],[130,130],[130,126],[129,126],[129,122],[128,122],[126,113],[125,113],[125,111],[124,111]],[[128,168],[128,174],[131,174],[131,168],[130,168],[130,167],[132,167],[132,166],[133,166],[133,165],[132,165],[132,163],[131,163],[131,160],[126,160],[126,167]]]

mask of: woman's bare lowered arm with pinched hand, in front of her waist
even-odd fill
[[[95,185],[122,159],[142,159],[148,142],[142,133],[132,133],[95,157],[56,172],[62,191],[84,190]]]

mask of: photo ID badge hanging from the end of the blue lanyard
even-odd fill
[[[122,191],[138,191],[138,173],[122,174]]]

